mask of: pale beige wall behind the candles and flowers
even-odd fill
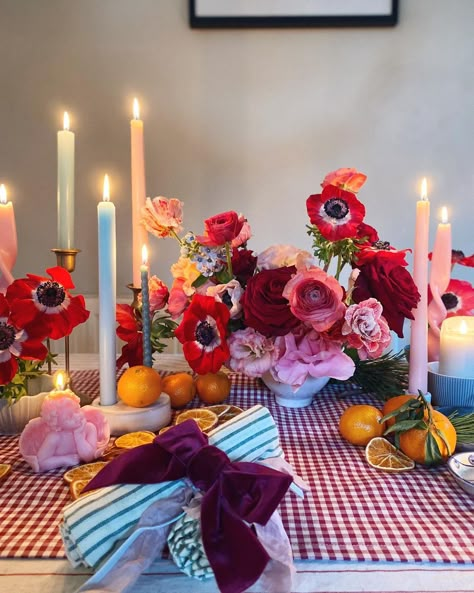
[[[0,182],[15,204],[17,276],[56,245],[56,130],[76,132],[78,290],[97,292],[104,172],[118,216],[118,286],[131,280],[129,124],[145,120],[147,189],[185,202],[186,227],[244,212],[251,246],[309,248],[305,200],[326,172],[368,175],[366,221],[413,244],[419,181],[474,251],[473,0],[400,0],[394,28],[191,30],[185,0],[0,0]],[[169,280],[171,240],[152,241]],[[473,280],[472,270],[459,277]]]

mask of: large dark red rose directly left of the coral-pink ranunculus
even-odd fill
[[[282,294],[295,272],[296,268],[290,266],[262,270],[249,278],[241,300],[247,326],[270,337],[284,336],[300,325]]]

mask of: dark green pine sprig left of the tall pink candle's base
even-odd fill
[[[386,400],[401,395],[408,388],[408,363],[403,350],[397,354],[388,352],[374,360],[359,360],[357,354],[352,358],[356,368],[350,380],[364,393]]]

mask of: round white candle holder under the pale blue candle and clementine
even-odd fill
[[[154,404],[144,408],[132,408],[120,400],[111,406],[101,406],[99,398],[92,405],[107,418],[113,436],[137,430],[156,432],[171,421],[170,398],[166,393],[162,393]]]

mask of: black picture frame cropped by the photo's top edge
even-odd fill
[[[225,10],[214,14],[205,10],[209,0],[189,0],[189,23],[192,28],[267,28],[267,27],[393,27],[398,22],[398,0],[391,0],[390,11],[358,14],[358,0],[351,0],[351,12],[328,15],[318,14],[273,14],[271,10],[259,16],[233,14],[225,16]],[[365,0],[361,0],[364,2]],[[327,0],[328,6],[334,0]],[[292,0],[288,0],[290,6]],[[202,5],[202,6],[200,6]]]

